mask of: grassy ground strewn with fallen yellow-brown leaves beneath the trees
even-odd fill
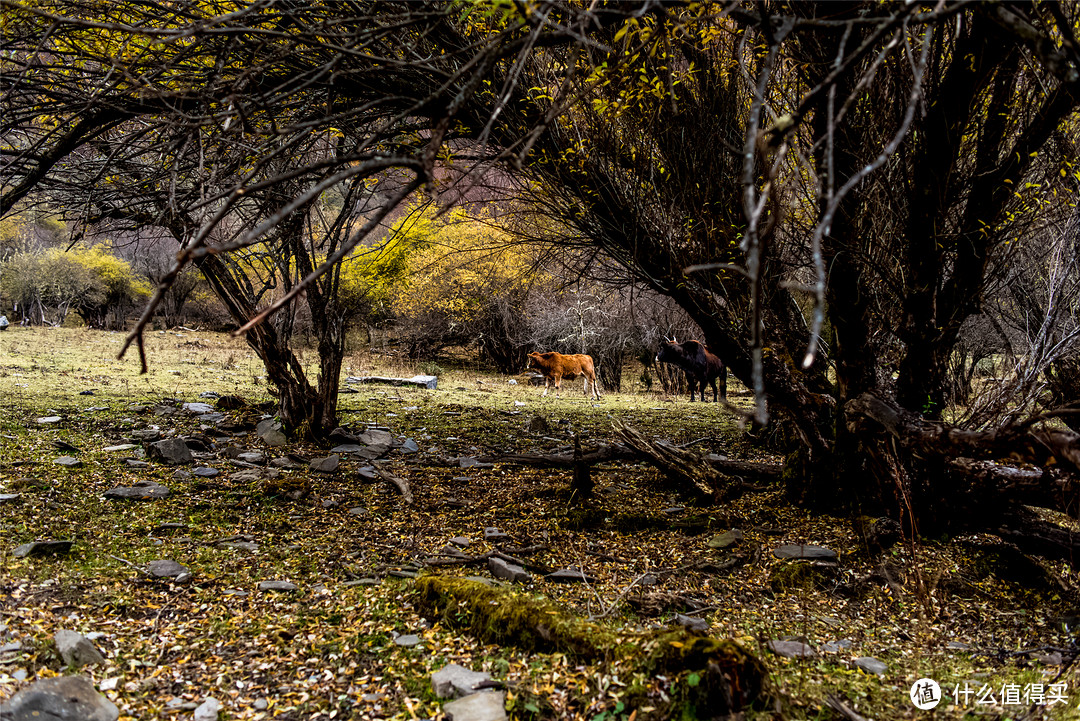
[[[360,475],[369,462],[359,460],[329,474],[283,471],[302,490],[288,500],[249,474],[237,480],[249,468],[225,449],[305,460],[328,449],[269,449],[254,433],[219,435],[175,412],[180,403],[213,403],[204,392],[271,400],[242,341],[154,332],[150,372],[139,375],[134,355],[114,358],[122,338],[71,328],[0,334],[0,498],[16,496],[0,501],[0,698],[68,672],[53,635],[70,629],[92,635],[104,653],[103,664],[81,672],[122,719],[188,719],[205,697],[221,702],[228,719],[435,718],[442,702],[431,675],[451,662],[499,681],[513,718],[712,716],[665,705],[679,684],[697,683],[687,675],[620,678],[603,658],[486,644],[421,617],[413,576],[490,577],[482,561],[427,561],[458,536],[471,541],[465,555],[483,556],[495,549],[484,529],[497,527],[509,534],[502,548],[530,549],[534,568],[573,567],[592,577],[556,584],[532,573],[514,584],[522,594],[625,638],[684,613],[705,621],[711,636],[738,639],[768,670],[771,699],[748,718],[838,718],[826,706],[831,695],[874,719],[1080,718],[1080,579],[1065,564],[1023,556],[991,535],[904,540],[872,556],[849,519],[793,507],[779,487],[694,504],[650,466],[612,462],[593,470],[596,492],[582,502],[568,491],[568,471],[458,460],[548,452],[575,435],[586,446],[608,443],[616,421],[732,459],[779,460],[748,443],[720,405],[642,391],[597,403],[580,381],[559,399],[541,398],[524,377],[509,384],[510,377],[460,366],[437,369],[436,391],[343,384],[357,391],[340,396],[345,426],[386,426],[419,446],[381,464],[407,480],[415,502]],[[432,369],[365,352],[350,355],[345,372]],[[251,413],[226,417],[249,424]],[[537,417],[548,427],[528,430]],[[218,475],[174,477],[176,468],[160,463],[131,467],[124,459],[137,449],[105,450],[154,428],[201,434],[207,451],[194,465]],[[81,465],[55,464],[60,455]],[[147,479],[168,487],[168,498],[103,498]],[[741,540],[717,547],[733,529]],[[13,554],[39,540],[75,543],[57,556]],[[825,546],[839,563],[792,572],[793,562],[772,553],[782,544]],[[740,562],[725,562],[733,552]],[[150,577],[145,568],[156,559],[184,564],[193,580]],[[654,583],[635,584],[646,576]],[[260,591],[264,581],[297,588]],[[416,644],[397,642],[414,635]],[[782,657],[768,647],[778,639],[816,653]],[[865,657],[883,670],[859,668]],[[944,696],[932,712],[908,696],[923,678]]]

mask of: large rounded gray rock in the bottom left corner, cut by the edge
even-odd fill
[[[42,679],[23,689],[3,705],[12,721],[117,721],[120,709],[94,690],[82,676]],[[8,716],[10,715],[10,716]]]

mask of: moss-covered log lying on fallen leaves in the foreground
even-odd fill
[[[732,640],[685,628],[620,634],[551,601],[467,579],[426,576],[416,584],[422,614],[468,629],[484,642],[566,653],[604,664],[620,678],[639,679],[630,695],[656,707],[642,719],[713,718],[768,698],[765,666]],[[653,688],[660,684],[663,694]],[[658,703],[658,696],[666,702]]]

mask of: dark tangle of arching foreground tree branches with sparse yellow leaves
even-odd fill
[[[693,317],[752,420],[791,431],[796,498],[994,523],[1011,481],[974,461],[1013,458],[1045,471],[1032,498],[1080,501],[1077,436],[1028,417],[1030,383],[945,414],[971,318],[1076,227],[1076,2],[0,4],[0,210],[50,192],[86,222],[175,229],[177,270],[219,277],[238,323],[308,287],[333,324],[315,276],[411,190],[510,177],[521,234],[599,249]],[[312,244],[341,187],[352,220]],[[289,288],[273,305],[219,270],[253,254]],[[326,427],[295,375],[275,382],[292,425]]]

